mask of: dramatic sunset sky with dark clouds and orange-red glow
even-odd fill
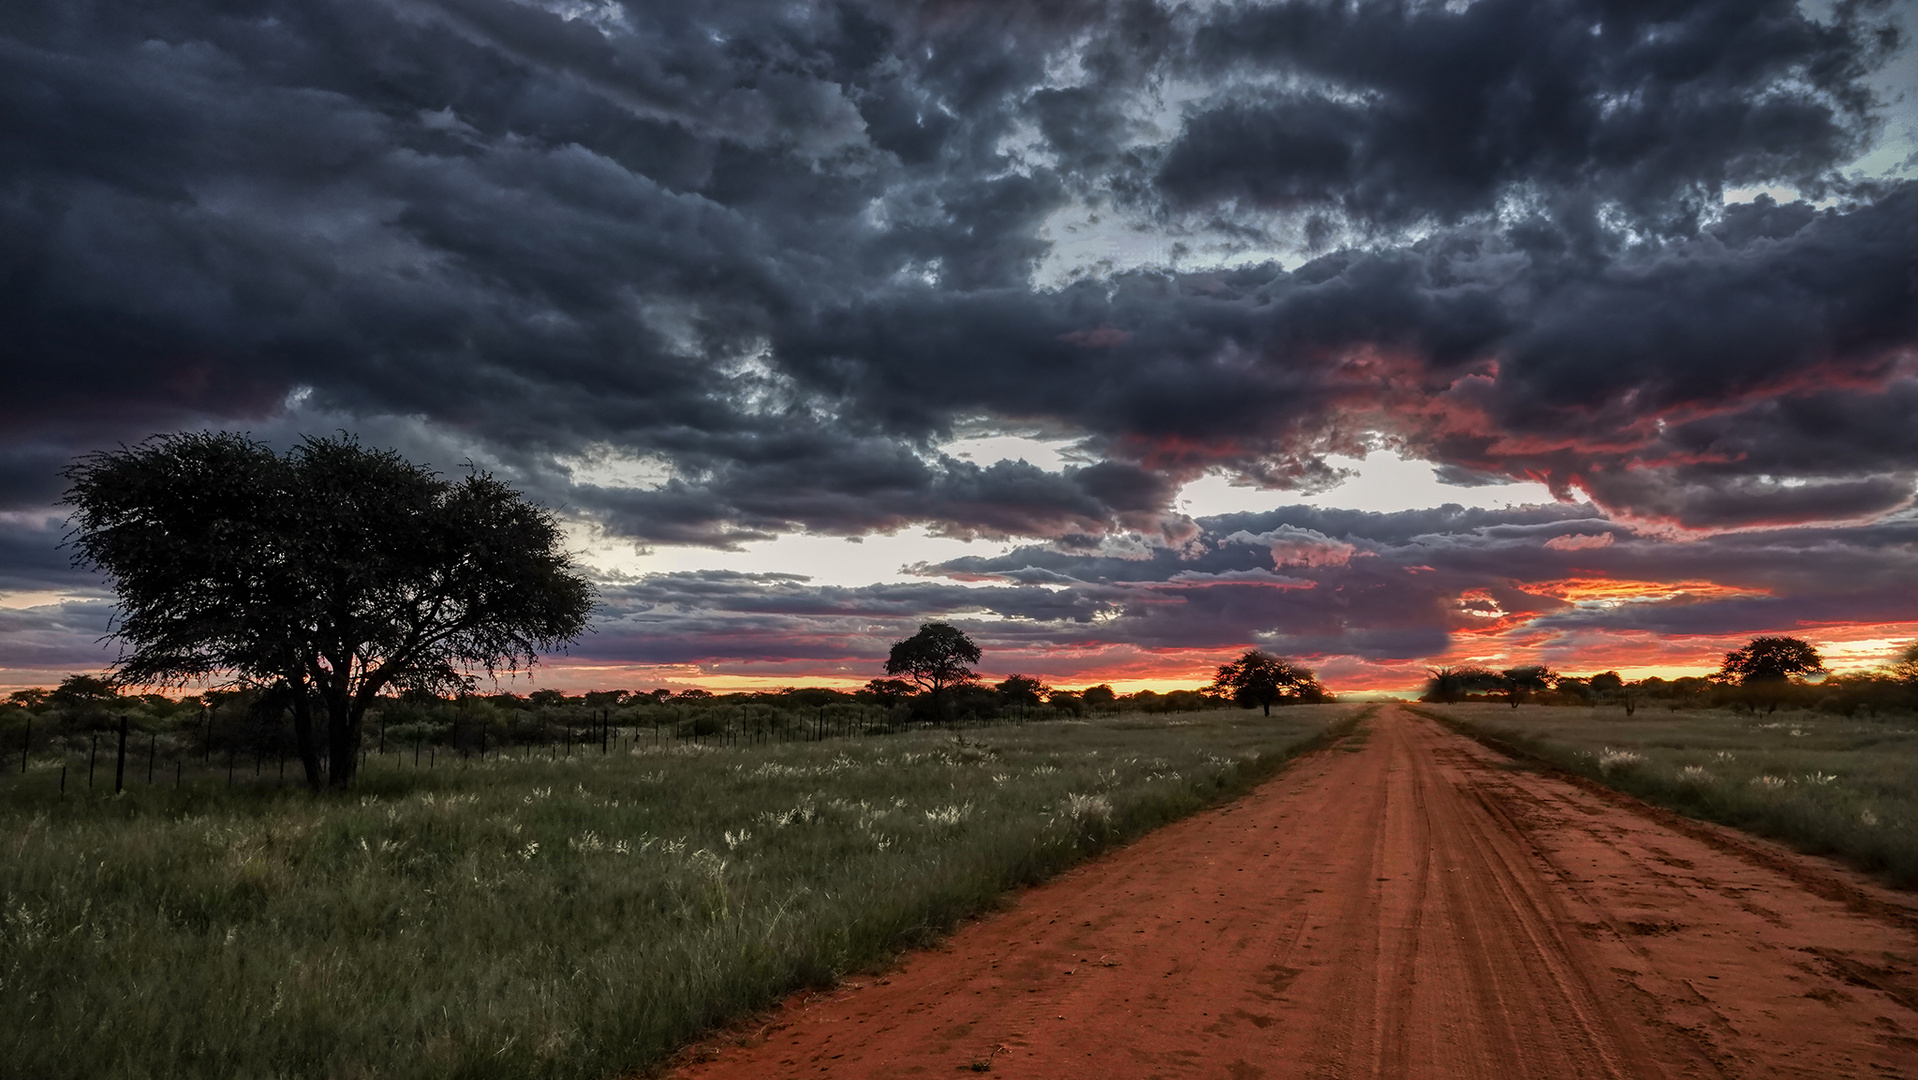
[[[1834,668],[1918,639],[1918,13],[10,0],[0,687],[79,455],[353,432],[566,522],[508,689]]]

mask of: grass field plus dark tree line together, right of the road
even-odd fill
[[[1438,668],[1423,700],[1494,744],[1918,888],[1918,645],[1847,675],[1793,637],[1672,681]]]

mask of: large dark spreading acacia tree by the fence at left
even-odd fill
[[[284,455],[236,434],[157,435],[65,476],[75,560],[119,599],[115,683],[267,689],[315,788],[353,783],[382,691],[533,666],[593,608],[549,510],[351,435]]]

